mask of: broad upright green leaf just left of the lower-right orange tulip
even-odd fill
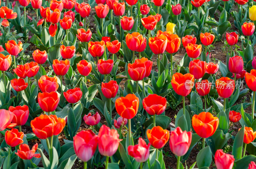
[[[242,158],[243,143],[244,143],[244,127],[242,127],[238,131],[233,143],[232,155],[234,156],[236,161]]]

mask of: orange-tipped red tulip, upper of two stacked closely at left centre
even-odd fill
[[[48,77],[47,75],[41,76],[38,80],[38,86],[42,92],[56,92],[59,84],[57,82],[57,77]]]

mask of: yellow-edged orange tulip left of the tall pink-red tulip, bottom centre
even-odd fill
[[[152,129],[147,130],[148,141],[156,149],[161,149],[168,142],[170,132],[164,130],[160,126],[155,126]]]

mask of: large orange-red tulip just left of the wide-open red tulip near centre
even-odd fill
[[[116,99],[116,112],[123,118],[132,119],[139,109],[139,98],[135,94],[127,94]]]

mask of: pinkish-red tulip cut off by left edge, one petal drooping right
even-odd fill
[[[6,128],[13,128],[16,126],[16,123],[11,123],[14,114],[8,110],[0,109],[0,131],[3,131]]]

